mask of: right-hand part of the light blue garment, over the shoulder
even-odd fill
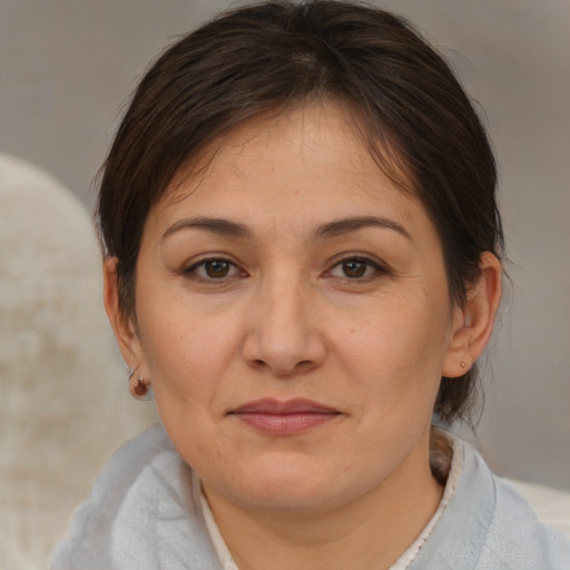
[[[568,570],[570,542],[541,524],[470,444],[453,439],[456,487],[410,570]]]

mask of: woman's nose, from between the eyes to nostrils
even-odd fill
[[[282,379],[318,367],[326,353],[318,314],[299,279],[277,277],[259,287],[247,315],[243,357]]]

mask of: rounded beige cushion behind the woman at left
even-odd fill
[[[48,568],[96,472],[155,421],[127,394],[86,208],[0,155],[0,568]]]

